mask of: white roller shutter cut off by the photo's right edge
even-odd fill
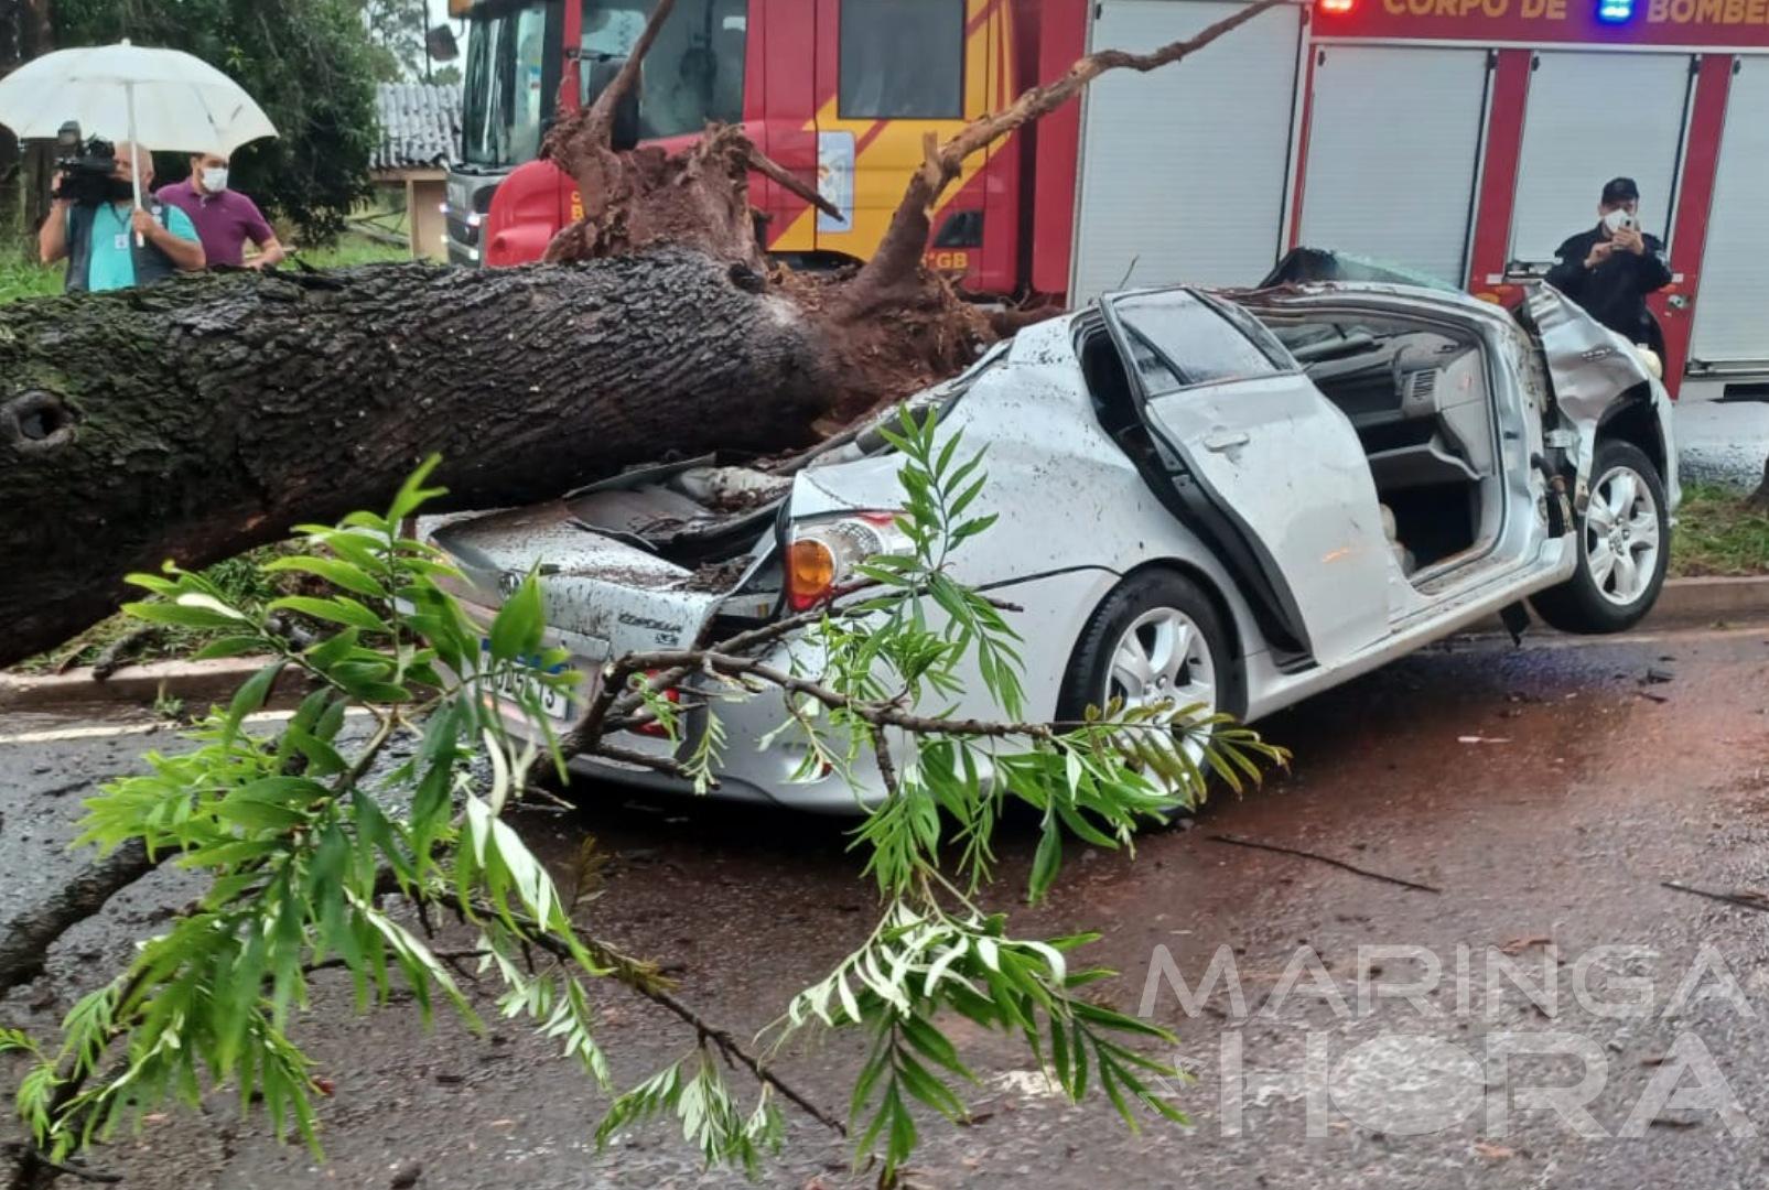
[[[1769,371],[1769,58],[1741,55],[1727,95],[1719,172],[1695,295],[1691,361],[1764,361]]]

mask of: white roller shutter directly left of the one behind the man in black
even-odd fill
[[[1486,50],[1316,50],[1302,244],[1461,286],[1486,71]]]

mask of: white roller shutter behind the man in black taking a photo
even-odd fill
[[[1686,53],[1544,50],[1530,72],[1509,258],[1555,262],[1597,223],[1612,177],[1640,184],[1640,226],[1670,242],[1672,186],[1693,76]]]

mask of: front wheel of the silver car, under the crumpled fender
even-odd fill
[[[1652,610],[1665,585],[1670,509],[1658,467],[1633,442],[1597,442],[1590,474],[1590,499],[1578,518],[1578,569],[1530,603],[1560,631],[1619,633]]]

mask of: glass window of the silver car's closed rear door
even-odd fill
[[[1113,311],[1130,339],[1130,361],[1150,396],[1189,384],[1247,380],[1283,371],[1238,327],[1194,294],[1120,297]]]

